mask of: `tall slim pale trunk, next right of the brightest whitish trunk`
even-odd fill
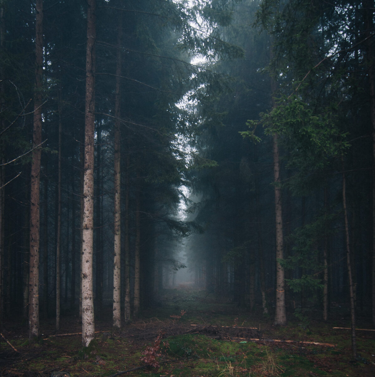
[[[122,14],[117,23],[116,93],[114,100],[114,260],[113,260],[113,326],[121,327],[121,37]]]

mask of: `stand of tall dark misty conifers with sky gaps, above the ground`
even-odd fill
[[[183,288],[277,328],[340,312],[358,360],[358,321],[375,326],[374,13],[0,0],[2,334],[17,322],[35,343],[75,316],[88,347],[104,316],[126,328]]]

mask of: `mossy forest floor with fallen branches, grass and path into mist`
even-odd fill
[[[375,375],[375,331],[357,331],[352,360],[349,320],[336,313],[329,323],[298,321],[286,326],[249,314],[205,291],[166,290],[160,306],[120,330],[111,311],[96,319],[96,338],[82,349],[76,316],[41,320],[42,339],[29,344],[27,326],[6,321],[0,340],[3,377],[203,377]],[[293,318],[295,320],[293,320]],[[338,327],[338,328],[335,328]],[[370,318],[358,328],[371,329]],[[8,343],[5,341],[7,340]]]

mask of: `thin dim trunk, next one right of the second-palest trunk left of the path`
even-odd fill
[[[130,231],[129,231],[129,192],[130,192],[130,155],[127,155],[126,176],[125,176],[125,299],[124,299],[124,320],[130,322]]]

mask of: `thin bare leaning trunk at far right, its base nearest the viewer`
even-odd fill
[[[348,210],[346,206],[346,177],[343,173],[343,209],[345,221],[345,243],[346,243],[346,266],[348,268],[348,282],[349,282],[349,300],[350,300],[350,319],[352,329],[352,356],[357,359],[357,338],[355,335],[355,301],[354,301],[354,285],[352,278],[352,264],[350,261],[350,243],[349,243],[349,225],[348,225]]]

